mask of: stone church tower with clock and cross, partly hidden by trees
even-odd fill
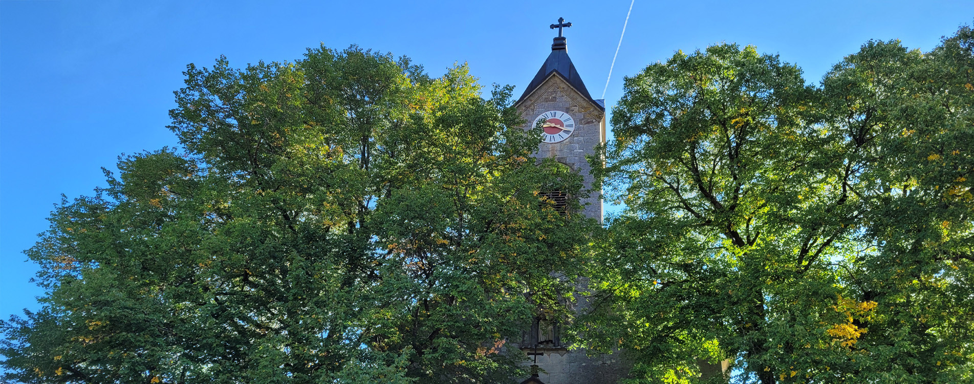
[[[588,94],[572,59],[568,57],[562,28],[571,22],[558,19],[551,28],[558,28],[558,37],[551,44],[551,54],[544,60],[538,74],[514,103],[521,118],[528,122],[525,129],[544,121],[543,142],[538,158],[554,158],[559,163],[581,173],[585,189],[592,184],[586,155],[594,155],[595,147],[606,141],[605,102]],[[557,201],[557,200],[556,200]],[[597,191],[581,200],[582,213],[602,221],[602,199]],[[578,282],[587,288],[587,280]],[[579,300],[577,310],[587,309]],[[587,357],[582,350],[570,351],[561,342],[561,329],[535,321],[519,347],[537,358],[540,372],[524,383],[544,384],[609,384],[616,383],[627,372],[618,354]],[[532,359],[534,360],[534,359]]]

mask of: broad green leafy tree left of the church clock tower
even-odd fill
[[[494,382],[571,288],[578,176],[509,87],[356,47],[189,65],[164,148],[64,201],[28,250],[44,308],[4,322],[25,383]],[[503,352],[503,353],[502,353]]]

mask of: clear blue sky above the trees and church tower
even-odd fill
[[[117,156],[175,145],[166,129],[187,63],[243,66],[301,58],[324,43],[406,55],[441,74],[468,62],[516,95],[550,52],[559,17],[568,52],[599,97],[629,0],[11,1],[0,0],[0,318],[36,309],[21,252],[47,229],[60,194],[92,194]],[[751,44],[818,82],[869,39],[929,50],[974,20],[974,1],[636,0],[607,105],[621,79],[674,51]]]

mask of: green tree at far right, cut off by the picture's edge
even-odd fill
[[[878,303],[850,355],[861,381],[974,380],[974,36],[929,53],[870,42],[823,86],[830,126],[861,148],[864,219],[844,279]]]

